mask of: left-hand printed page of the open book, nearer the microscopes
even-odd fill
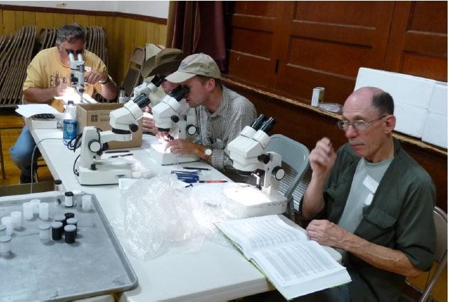
[[[277,215],[228,220],[216,225],[244,254],[262,247],[307,240],[303,232],[287,225]]]

